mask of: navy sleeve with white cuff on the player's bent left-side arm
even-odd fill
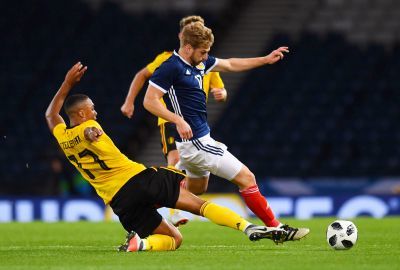
[[[149,84],[161,92],[167,93],[173,84],[175,74],[176,72],[173,64],[166,61],[153,73],[149,80]]]

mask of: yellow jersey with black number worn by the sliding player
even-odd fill
[[[109,204],[118,190],[146,167],[128,159],[104,132],[97,142],[86,140],[84,130],[88,127],[103,130],[99,123],[89,120],[72,128],[58,124],[53,135],[68,160]]]

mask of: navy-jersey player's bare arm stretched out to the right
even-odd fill
[[[240,72],[264,65],[271,65],[282,60],[284,53],[288,52],[288,47],[279,47],[270,54],[262,57],[218,59],[218,63],[212,71]]]

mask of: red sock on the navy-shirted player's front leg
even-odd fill
[[[257,185],[240,191],[240,195],[242,195],[247,207],[249,207],[266,226],[277,227],[279,225],[279,221],[275,218],[274,212],[272,212],[267,200],[258,190]]]

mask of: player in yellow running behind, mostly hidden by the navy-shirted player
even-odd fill
[[[204,19],[200,16],[187,16],[179,22],[180,33],[183,27],[192,23],[201,22],[204,24]],[[134,111],[134,102],[136,96],[143,88],[144,83],[153,75],[154,71],[172,55],[172,51],[165,51],[157,55],[157,57],[146,67],[136,73],[129,87],[128,95],[121,107],[121,112],[131,118]],[[211,89],[211,90],[210,90]],[[227,97],[227,92],[224,88],[224,83],[219,75],[219,72],[210,72],[204,75],[203,90],[208,99],[209,92],[212,93],[217,102],[224,102]],[[165,104],[164,104],[165,105]],[[175,145],[176,126],[174,123],[168,122],[161,117],[158,117],[158,126],[160,127],[161,147],[163,154],[167,160],[168,166],[175,166],[179,161],[179,153]],[[180,215],[179,211],[171,209],[170,221],[175,225],[183,225],[188,222],[188,219]]]

